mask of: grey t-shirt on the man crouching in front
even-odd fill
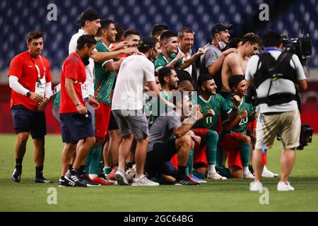
[[[153,150],[153,145],[155,143],[165,143],[172,139],[174,127],[181,126],[180,116],[174,112],[170,111],[167,114],[160,115],[151,126],[149,131],[149,144],[147,152]]]

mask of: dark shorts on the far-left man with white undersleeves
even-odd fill
[[[17,134],[28,132],[33,139],[44,138],[47,134],[44,112],[35,112],[23,105],[16,105],[11,108],[11,114]]]

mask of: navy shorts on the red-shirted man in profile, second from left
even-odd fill
[[[92,114],[78,112],[59,114],[61,119],[61,136],[64,143],[77,143],[79,140],[94,137]]]

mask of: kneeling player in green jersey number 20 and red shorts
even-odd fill
[[[251,150],[251,138],[247,136],[249,117],[254,112],[253,106],[245,102],[247,85],[244,76],[232,75],[228,79],[232,89],[232,95],[238,95],[241,99],[237,116],[232,122],[223,123],[223,132],[220,136],[220,146],[228,153],[228,168],[234,178],[254,179],[249,172],[249,152]],[[231,95],[225,99],[230,107],[234,107]]]

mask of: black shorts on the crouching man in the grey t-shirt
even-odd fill
[[[147,153],[146,162],[152,166],[162,165],[163,162],[170,161],[176,153],[175,138],[165,143],[155,143],[153,150]]]

